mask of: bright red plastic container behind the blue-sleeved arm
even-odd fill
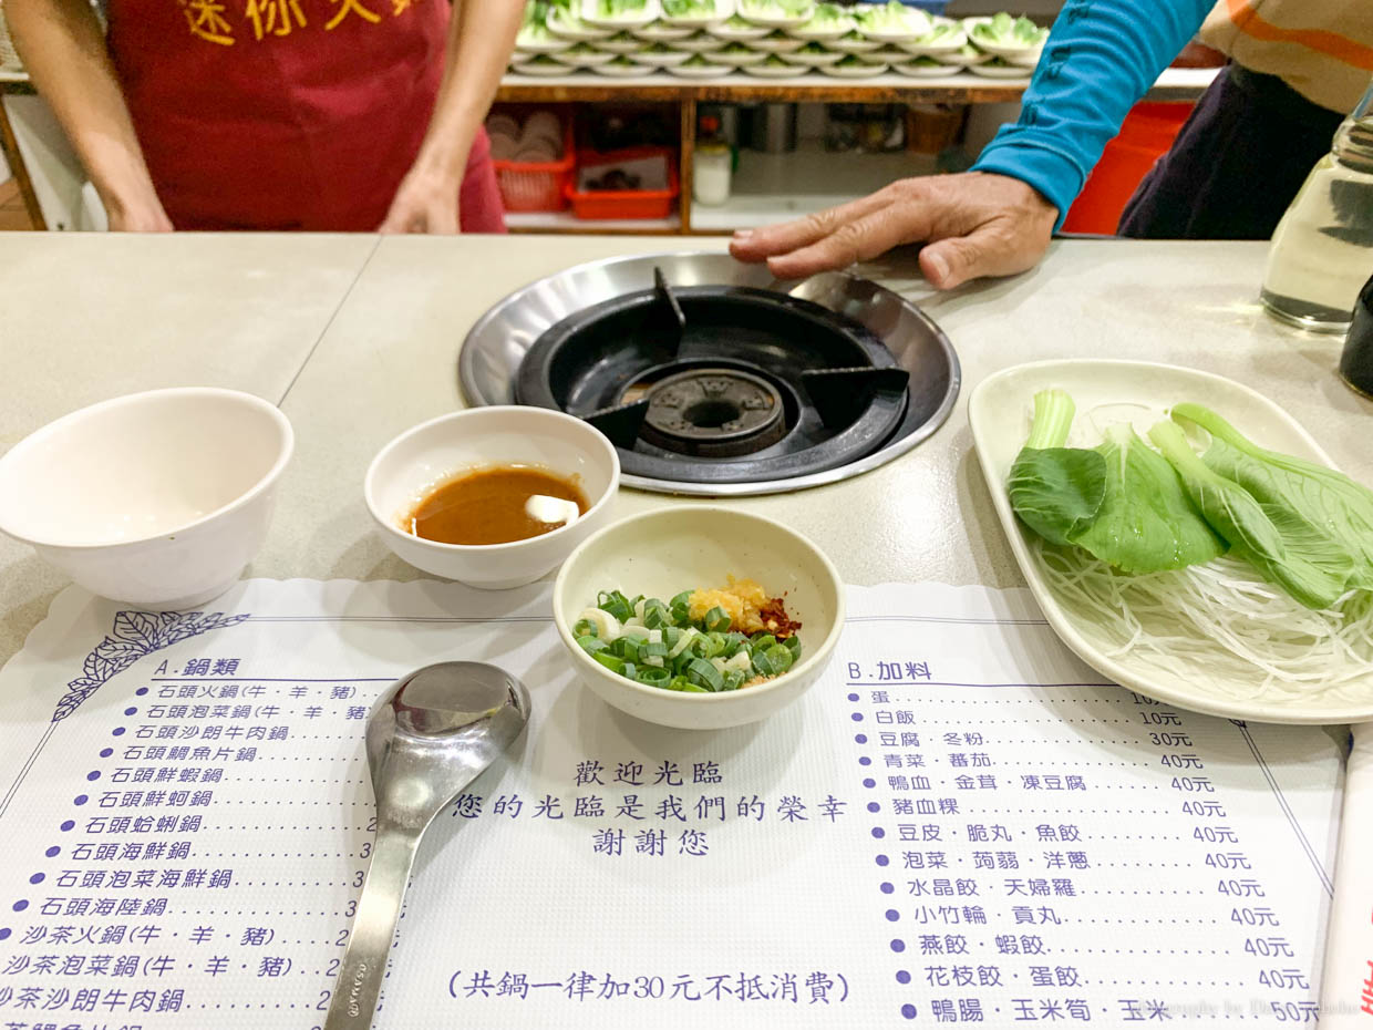
[[[1135,104],[1120,124],[1120,133],[1107,144],[1087,184],[1063,221],[1064,232],[1115,235],[1120,213],[1140,180],[1163,157],[1192,114],[1189,103]]]

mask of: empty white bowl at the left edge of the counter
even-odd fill
[[[266,536],[291,423],[236,390],[177,387],[71,412],[0,457],[0,530],[92,593],[184,608]]]

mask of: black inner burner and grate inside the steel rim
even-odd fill
[[[588,419],[633,475],[766,482],[880,448],[905,369],[857,321],[748,287],[655,287],[568,316],[526,353],[515,400]]]

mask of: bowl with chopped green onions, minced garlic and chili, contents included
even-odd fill
[[[833,563],[780,522],[681,505],[588,537],[553,585],[553,619],[608,705],[722,729],[766,718],[820,677],[844,593]]]

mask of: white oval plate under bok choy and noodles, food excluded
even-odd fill
[[[1193,711],[1259,722],[1344,724],[1373,718],[1373,684],[1369,702],[1273,703],[1234,700],[1205,685],[1204,677],[1177,677],[1130,654],[1109,658],[1096,643],[1093,626],[1082,625],[1064,610],[1030,552],[1028,530],[1023,529],[1006,496],[1006,475],[1030,433],[1034,394],[1048,389],[1065,390],[1076,404],[1075,426],[1092,426],[1096,415],[1103,428],[1115,422],[1131,422],[1138,431],[1166,417],[1174,404],[1190,401],[1212,408],[1260,446],[1310,461],[1332,466],[1311,435],[1291,415],[1269,398],[1210,372],[1160,365],[1148,361],[1035,361],[1016,365],[982,382],[968,402],[968,422],[978,448],[978,460],[991,492],[1011,551],[1049,625],[1083,662],[1138,694]]]

